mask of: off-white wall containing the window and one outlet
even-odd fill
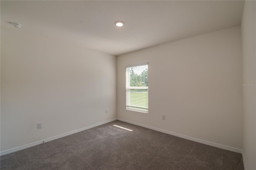
[[[127,111],[125,66],[145,62],[148,114]],[[118,118],[242,149],[241,66],[240,26],[120,55]]]

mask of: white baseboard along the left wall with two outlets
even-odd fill
[[[16,148],[12,148],[12,149],[8,149],[8,150],[3,150],[2,152],[0,152],[0,156],[3,156],[3,155],[6,155],[6,154],[10,154],[12,152],[16,152],[16,151],[19,151],[19,150],[22,150],[22,149],[26,149],[26,148],[30,148],[32,146],[36,146],[38,144],[42,144],[42,143],[45,143],[45,142],[49,142],[51,140],[55,140],[55,139],[58,139],[58,138],[62,138],[62,137],[65,137],[65,136],[68,136],[70,134],[74,134],[74,133],[77,133],[77,132],[81,132],[83,130],[87,130],[89,128],[93,128],[93,127],[97,127],[97,126],[100,126],[100,125],[103,125],[105,123],[109,123],[109,122],[112,122],[112,121],[116,121],[117,119],[114,118],[114,119],[110,119],[108,121],[104,121],[104,122],[100,122],[100,123],[96,123],[94,125],[90,125],[88,127],[84,127],[84,128],[80,128],[80,129],[77,129],[77,130],[72,130],[70,132],[66,132],[66,133],[63,133],[63,134],[59,134],[57,136],[53,136],[53,137],[50,137],[50,138],[47,138],[47,139],[44,139],[44,140],[39,140],[37,142],[32,142],[32,143],[29,143],[29,144],[25,144],[23,146],[18,146]]]

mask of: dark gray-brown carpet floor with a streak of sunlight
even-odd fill
[[[1,170],[244,169],[241,154],[121,121],[1,156],[0,163]]]

